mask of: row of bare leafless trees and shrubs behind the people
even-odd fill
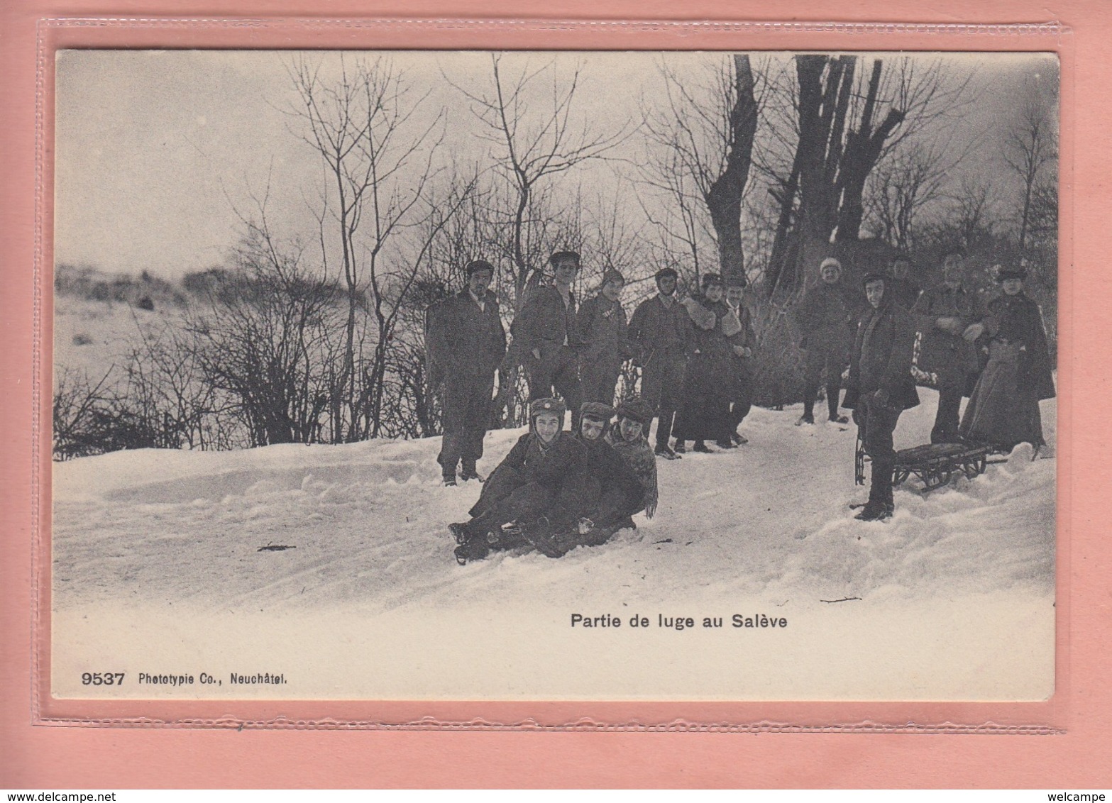
[[[425,310],[475,258],[499,269],[507,324],[559,249],[583,255],[580,297],[616,268],[631,306],[662,267],[692,286],[744,277],[766,406],[801,397],[792,311],[823,257],[853,280],[904,254],[929,281],[959,246],[984,284],[993,264],[1024,261],[1056,309],[1056,83],[994,132],[994,185],[965,169],[973,140],[947,138],[976,98],[941,58],[662,58],[639,120],[584,112],[583,61],[489,59],[484,81],[443,76],[471,161],[446,155],[448,111],[389,57],[338,71],[290,59],[288,128],[320,167],[299,188],[312,225],[276,229],[271,177],[235,206],[239,241],[182,280],[160,329],[103,376],[56,376],[56,456],[437,435]],[[599,171],[613,180],[590,181]],[[498,423],[516,425],[524,377],[508,367]]]

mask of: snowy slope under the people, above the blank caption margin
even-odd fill
[[[904,414],[897,447],[926,439],[931,402]],[[1053,407],[1045,413],[1052,437]],[[384,608],[526,589],[667,599],[677,587],[814,598],[1051,587],[1055,460],[1014,459],[926,496],[897,489],[895,518],[863,524],[846,507],[865,495],[853,486],[852,426],[797,428],[794,417],[756,409],[746,446],[661,462],[659,512],[638,516],[636,533],[562,561],[504,554],[463,568],[445,525],[466,519],[478,486],[439,486],[436,438],[56,464],[58,603],[121,591],[221,607]],[[489,434],[480,468],[519,434]],[[257,552],[268,544],[296,549]],[[97,583],[82,582],[90,574]]]

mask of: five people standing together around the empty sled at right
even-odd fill
[[[834,258],[820,266],[820,284],[801,305],[807,349],[804,410],[797,426],[814,424],[814,400],[825,371],[830,420],[853,410],[872,458],[868,502],[857,518],[893,513],[893,434],[900,414],[919,404],[916,383],[937,388],[932,444],[987,444],[1010,452],[1045,444],[1039,402],[1054,396],[1050,351],[1039,305],[1023,293],[1023,268],[996,266],[1001,293],[989,300],[966,287],[960,251],[946,254],[942,282],[920,290],[910,262],[891,275],[871,272],[861,296],[841,280]],[[846,394],[840,405],[842,378]],[[970,397],[960,415],[964,396]]]

